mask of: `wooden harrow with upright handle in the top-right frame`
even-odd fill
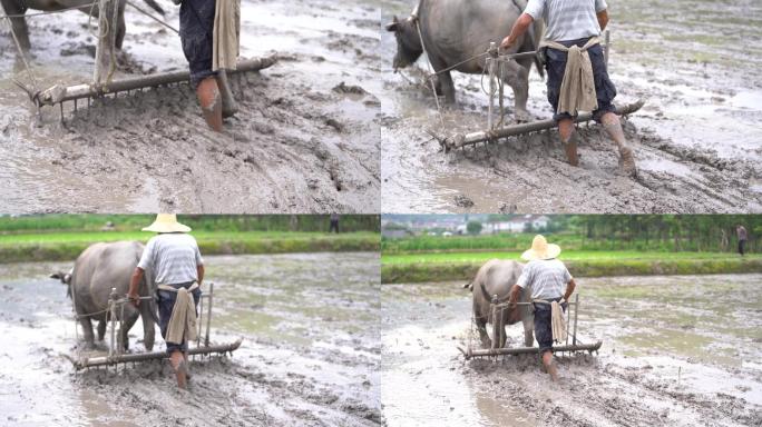
[[[604,32],[604,42],[602,44],[604,48],[606,66],[608,66],[610,46],[610,34],[608,30]],[[478,143],[496,142],[504,138],[529,135],[533,132],[549,130],[557,127],[556,122],[553,119],[533,121],[527,123],[505,125],[506,110],[504,107],[504,81],[500,78],[500,76],[502,76],[502,67],[508,60],[515,60],[520,58],[535,58],[539,56],[539,51],[520,53],[500,53],[497,43],[490,42],[489,49],[486,53],[483,53],[483,56],[486,56],[486,75],[489,76],[489,89],[485,90],[487,96],[489,96],[489,107],[487,110],[487,128],[486,130],[480,130],[471,133],[453,133],[449,136],[441,136],[437,135],[433,131],[430,131],[430,133],[439,141],[440,146],[444,149],[444,151],[450,151],[453,148],[457,149],[469,146],[477,146]],[[482,76],[482,79],[483,77],[485,76]],[[497,122],[495,121],[496,98],[498,100],[498,110],[500,113],[500,120]],[[644,106],[644,100],[638,100],[629,105],[618,106],[616,108],[616,113],[619,116],[632,115],[638,111]],[[575,122],[583,123],[588,122],[590,120],[593,120],[593,115],[590,112],[583,112],[577,116]]]

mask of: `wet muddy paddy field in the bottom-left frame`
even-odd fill
[[[232,358],[194,361],[187,393],[162,363],[75,374],[61,356],[78,351],[70,301],[46,278],[70,265],[0,266],[0,424],[381,424],[378,255],[206,261],[215,282],[212,340],[244,341]],[[136,351],[141,337],[136,325]]]

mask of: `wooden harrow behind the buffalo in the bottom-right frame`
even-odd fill
[[[533,302],[517,302],[518,306],[530,306]],[[518,356],[518,355],[539,355],[539,347],[516,347],[516,348],[508,348],[508,347],[499,347],[499,342],[505,341],[505,322],[502,318],[501,311],[504,309],[508,309],[509,304],[508,302],[500,302],[498,300],[497,295],[492,297],[492,301],[490,304],[490,317],[492,319],[492,346],[490,348],[480,348],[478,346],[475,346],[475,339],[473,339],[473,334],[470,334],[469,336],[469,342],[467,348],[458,347],[460,352],[462,352],[463,357],[466,357],[466,360],[469,360],[471,358],[481,358],[481,357],[492,357],[497,358],[498,356]],[[572,318],[572,307],[574,307],[574,318]],[[566,342],[559,344],[559,345],[554,345],[553,346],[553,351],[555,354],[576,354],[576,352],[584,352],[587,351],[588,354],[593,354],[593,351],[598,351],[600,349],[600,346],[603,341],[596,341],[593,344],[583,344],[578,338],[577,338],[577,321],[578,321],[578,316],[579,316],[579,294],[577,294],[574,298],[574,301],[568,302],[568,307],[566,309],[566,327],[567,327],[567,336],[566,336]],[[495,321],[497,319],[497,321]],[[572,328],[572,330],[568,330]],[[572,337],[572,342],[569,342],[569,337]]]

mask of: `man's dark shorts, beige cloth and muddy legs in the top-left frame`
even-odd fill
[[[238,54],[240,1],[173,0],[180,4],[180,41],[190,68],[190,83],[206,123],[223,130],[223,117],[236,107],[225,68],[234,69]],[[231,32],[233,31],[233,32]]]

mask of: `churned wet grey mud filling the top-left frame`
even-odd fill
[[[178,26],[179,9],[159,3]],[[242,8],[242,56],[281,60],[233,78],[240,112],[224,135],[207,130],[187,86],[89,110],[80,101],[76,112],[67,103],[63,125],[58,108],[45,108],[38,120],[12,83],[28,80],[2,27],[4,211],[378,212],[379,7],[244,0]],[[126,20],[118,76],[187,67],[174,32],[131,8]],[[79,11],[28,19],[40,87],[91,78],[87,21]]]

